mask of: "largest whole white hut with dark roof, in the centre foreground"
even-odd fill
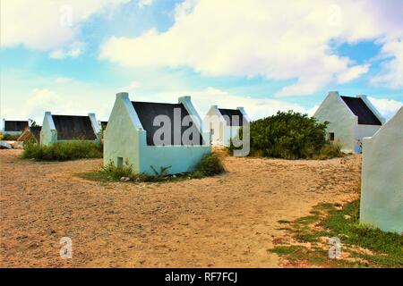
[[[127,93],[119,93],[104,134],[104,164],[127,163],[134,172],[150,174],[161,168],[167,173],[189,172],[210,153],[209,142],[191,97],[167,104],[132,102]]]

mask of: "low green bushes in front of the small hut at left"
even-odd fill
[[[77,140],[59,142],[51,146],[40,146],[33,142],[24,144],[22,158],[37,161],[67,161],[102,157],[102,146],[99,143]]]

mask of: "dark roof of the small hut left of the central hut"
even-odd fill
[[[95,140],[89,116],[52,115],[58,140]]]

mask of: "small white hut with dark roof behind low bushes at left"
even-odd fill
[[[47,112],[40,130],[40,144],[44,146],[71,140],[98,141],[99,138],[100,130],[95,114],[77,116]]]

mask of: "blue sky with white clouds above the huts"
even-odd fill
[[[96,113],[116,93],[313,115],[329,91],[403,103],[401,0],[0,0],[0,114]]]

